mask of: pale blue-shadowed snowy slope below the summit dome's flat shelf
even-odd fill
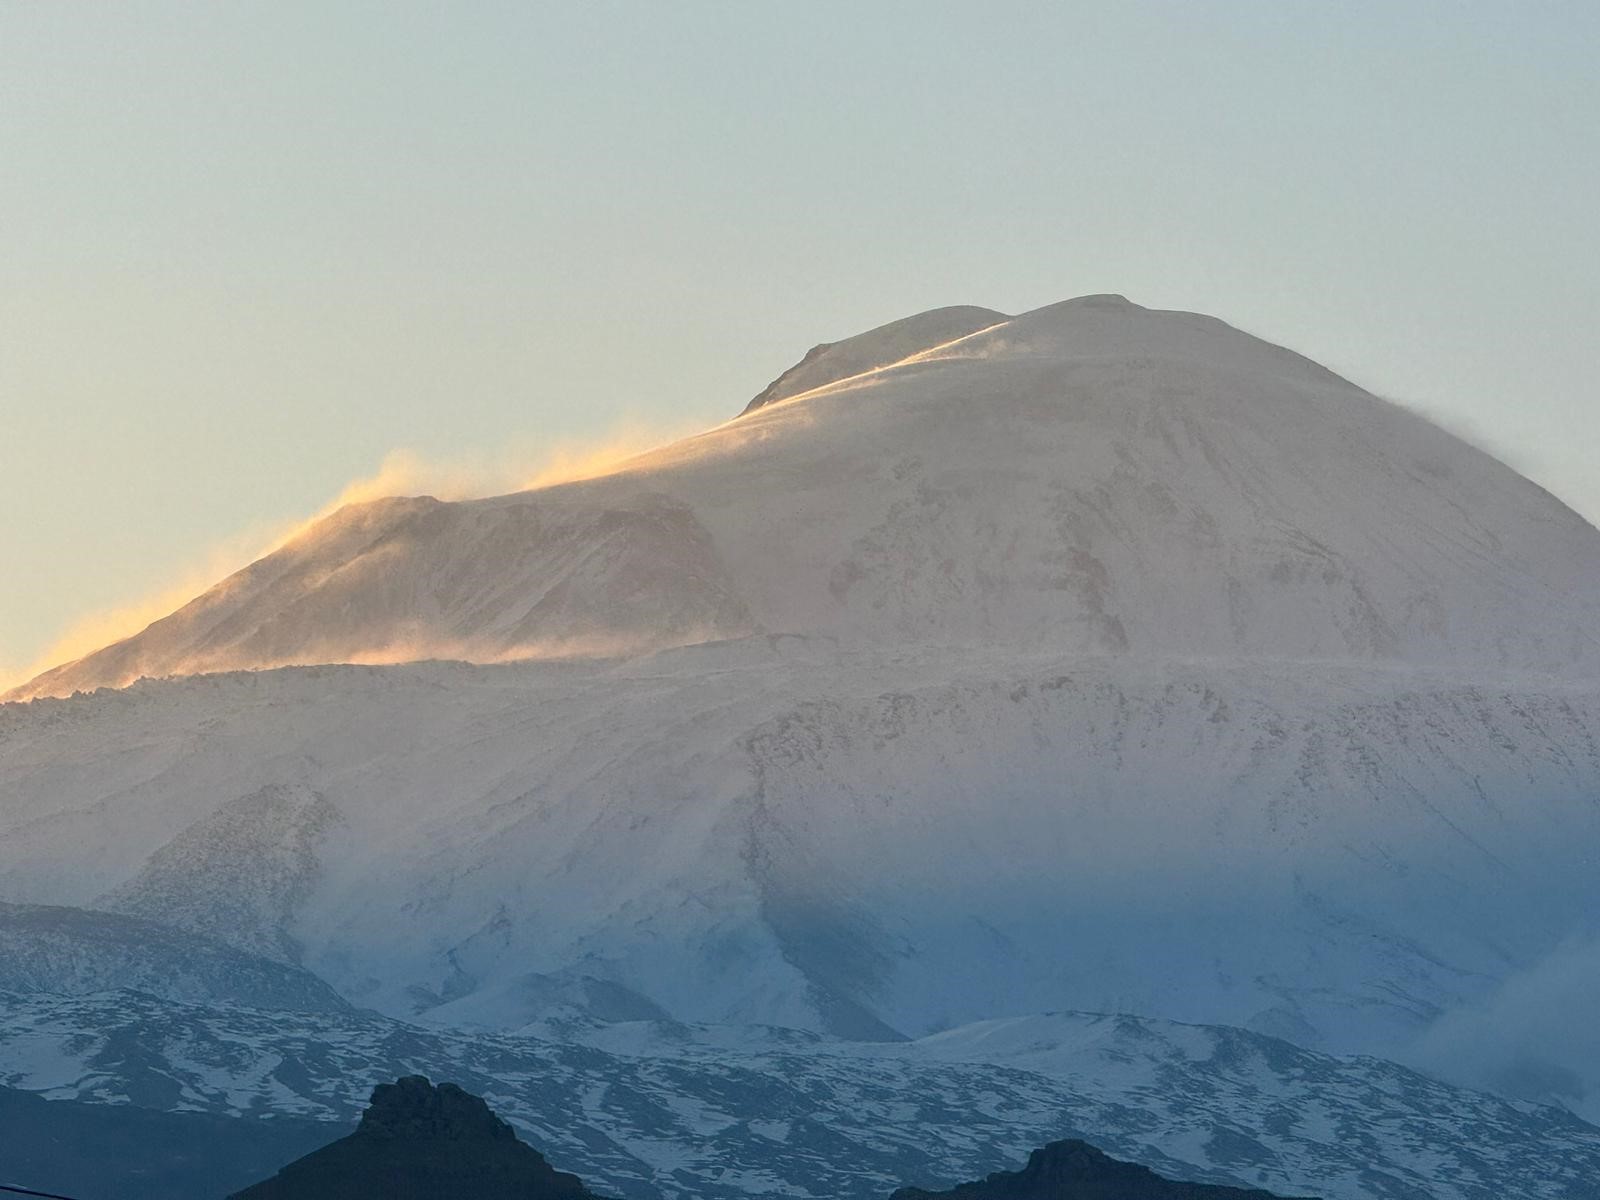
[[[486,1029],[1072,1006],[1397,1054],[1594,933],[1597,731],[1576,683],[803,638],[216,675],[0,709],[0,898],[250,880],[243,949]]]

